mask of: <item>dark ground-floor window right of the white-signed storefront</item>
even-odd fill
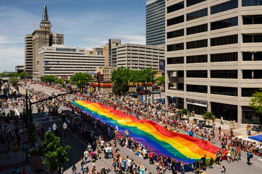
[[[211,102],[211,112],[218,119],[223,116],[226,121],[237,121],[237,105]]]

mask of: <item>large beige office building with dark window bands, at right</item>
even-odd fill
[[[196,114],[262,123],[262,1],[166,0],[166,101]]]

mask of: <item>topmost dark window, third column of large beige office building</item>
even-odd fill
[[[238,6],[239,6],[238,1],[239,0],[231,0],[231,1],[226,1],[224,3],[219,3],[217,5],[214,5],[214,6],[210,7],[211,14],[216,14],[216,13],[219,13],[219,12],[224,12],[226,10],[238,8]]]

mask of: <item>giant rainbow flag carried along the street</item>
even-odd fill
[[[72,104],[112,127],[117,125],[120,132],[128,130],[129,136],[152,149],[156,154],[171,156],[186,164],[200,160],[204,155],[207,160],[211,157],[215,159],[215,154],[220,150],[208,141],[170,132],[153,121],[138,120],[135,116],[114,110],[101,103],[75,101]]]

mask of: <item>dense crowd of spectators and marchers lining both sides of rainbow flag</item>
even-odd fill
[[[39,84],[44,85],[44,84]],[[29,87],[30,85],[28,85]],[[50,87],[50,86],[48,86]],[[61,90],[61,92],[65,92],[67,89],[51,86],[52,88],[56,88],[56,90]],[[32,90],[32,88],[28,88],[30,92],[30,97],[32,100],[41,100],[50,97],[41,91]],[[151,121],[155,121],[160,125],[166,127],[169,131],[179,132],[185,131],[188,132],[188,135],[195,136],[197,138],[201,138],[202,140],[209,140],[210,142],[220,142],[221,149],[226,149],[226,159],[228,162],[233,162],[234,160],[241,160],[241,151],[247,151],[248,155],[248,163],[252,158],[253,154],[261,155],[262,153],[262,145],[257,144],[256,142],[250,142],[247,140],[243,140],[241,138],[237,138],[233,135],[233,132],[230,131],[229,134],[224,133],[221,130],[221,127],[215,127],[215,121],[212,123],[212,127],[203,127],[201,125],[193,125],[189,120],[182,119],[182,115],[179,114],[179,110],[175,108],[175,105],[163,105],[158,102],[154,103],[140,103],[137,99],[133,99],[128,96],[118,97],[111,95],[98,95],[96,92],[88,95],[80,95],[77,94],[74,96],[76,100],[78,99],[86,99],[89,101],[99,102],[103,105],[110,106],[115,110],[121,110],[124,113],[131,114],[133,116],[137,116],[138,119],[149,119]],[[8,99],[8,101],[2,102],[1,108],[10,108],[13,105],[24,105],[25,97],[21,97],[19,99]],[[117,146],[126,147],[131,149],[133,153],[140,156],[141,158],[149,159],[150,164],[155,164],[157,173],[164,173],[166,170],[170,170],[173,173],[176,173],[177,170],[182,171],[182,173],[186,170],[186,165],[183,162],[177,162],[175,158],[171,158],[168,156],[163,156],[160,154],[155,154],[151,149],[147,149],[141,145],[141,143],[135,142],[133,138],[129,136],[125,136],[124,134],[120,134],[120,132],[116,131],[116,127],[110,127],[102,123],[99,120],[92,118],[92,116],[81,112],[78,108],[74,108],[70,105],[69,95],[56,97],[52,101],[43,101],[42,103],[37,104],[35,107],[38,110],[39,114],[43,114],[44,112],[57,112],[58,108],[61,106],[65,106],[67,108],[72,108],[73,112],[76,112],[82,116],[83,121],[87,121],[94,125],[94,127],[98,128],[98,132],[91,132],[87,129],[87,125],[78,120],[72,119],[70,114],[64,114],[64,119],[67,122],[67,125],[71,127],[72,131],[78,131],[85,138],[90,140],[90,144],[87,145],[87,151],[84,152],[83,162],[81,165],[87,162],[87,158],[90,157],[91,161],[98,160],[100,158],[100,153],[105,153],[105,158],[112,158],[112,168],[113,170],[117,170],[118,172],[128,171],[129,173],[149,173],[149,171],[142,165],[138,164],[137,160],[131,159],[128,156],[122,156],[118,151]],[[54,113],[55,114],[55,113]],[[194,113],[192,113],[194,115]],[[8,118],[11,116],[14,118],[14,111],[10,110],[9,113],[3,112],[1,110],[2,118]],[[10,118],[11,118],[10,117]],[[19,117],[16,118],[19,122]],[[14,119],[15,120],[15,119]],[[15,122],[14,122],[15,123]],[[12,132],[12,131],[6,131]],[[14,132],[14,131],[13,131]],[[10,138],[7,134],[3,134],[1,132],[1,140],[7,140]],[[103,136],[98,136],[102,134]],[[3,137],[3,138],[2,138]],[[109,140],[113,139],[113,143],[109,142]],[[107,142],[105,142],[107,140]],[[17,139],[14,139],[17,142]],[[222,151],[218,151],[216,154],[216,160],[214,161],[216,164],[220,164],[222,159]],[[208,164],[212,167],[213,161],[210,160]],[[76,167],[76,166],[74,166]],[[200,171],[201,169],[206,169],[206,159],[205,157],[201,158],[200,161],[197,161],[194,164],[195,171]],[[88,169],[88,167],[82,167],[83,173],[96,173],[98,169],[96,169],[96,165],[94,164],[92,169]],[[224,169],[224,166],[221,170]],[[101,169],[99,172],[104,172]],[[226,171],[226,169],[224,169]],[[73,170],[76,171],[76,170]]]

